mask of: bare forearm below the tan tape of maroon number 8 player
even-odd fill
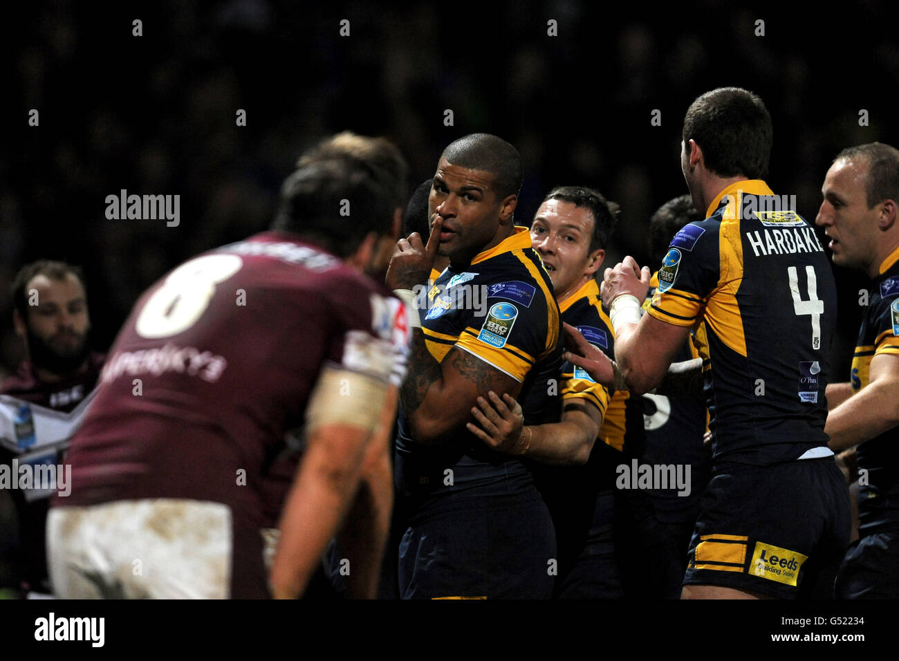
[[[362,434],[355,427],[347,430],[357,437]],[[323,443],[309,444],[281,514],[269,577],[275,598],[295,599],[305,592],[359,486],[361,451],[355,460],[346,456],[334,461],[334,453],[322,448]]]

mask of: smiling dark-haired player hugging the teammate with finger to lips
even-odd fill
[[[560,186],[540,204],[530,238],[556,291],[565,323],[611,353],[614,335],[593,276],[605,257],[619,207],[600,192]],[[537,469],[538,487],[556,527],[556,598],[624,596],[615,558],[615,467],[622,461],[624,401],[619,420],[604,415],[617,395],[571,363],[562,367],[559,422],[523,426],[521,406],[510,395],[478,397],[471,433],[498,451],[551,466]],[[640,421],[642,423],[642,420]],[[597,438],[600,442],[596,442]],[[564,468],[563,468],[564,467]]]

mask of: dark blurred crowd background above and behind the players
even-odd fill
[[[796,194],[814,219],[842,147],[899,146],[890,4],[801,13],[712,0],[28,4],[2,28],[0,378],[22,357],[6,293],[22,264],[83,265],[93,344],[105,350],[167,270],[265,228],[298,154],[338,130],[394,139],[412,187],[451,140],[495,133],[524,160],[520,224],[551,186],[590,185],[623,210],[606,265],[626,254],[642,264],[650,214],[687,192],[684,112],[697,95],[737,85],[760,94],[772,115],[771,187]],[[134,19],[143,36],[132,35]],[[39,127],[28,126],[32,108]],[[453,126],[444,125],[447,109]],[[661,126],[651,123],[656,109]],[[180,225],[106,219],[105,198],[121,189],[179,194]],[[833,364],[845,380],[866,280],[839,269],[837,277]]]

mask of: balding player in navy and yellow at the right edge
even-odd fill
[[[841,599],[899,597],[899,151],[872,142],[841,151],[815,222],[833,264],[872,281],[847,383],[827,387],[833,451],[858,445],[859,540],[837,576]]]

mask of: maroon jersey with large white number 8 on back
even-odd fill
[[[113,344],[72,442],[72,495],[55,505],[192,498],[257,527],[265,472],[302,427],[323,364],[398,383],[405,314],[382,285],[289,234],[182,264]]]

